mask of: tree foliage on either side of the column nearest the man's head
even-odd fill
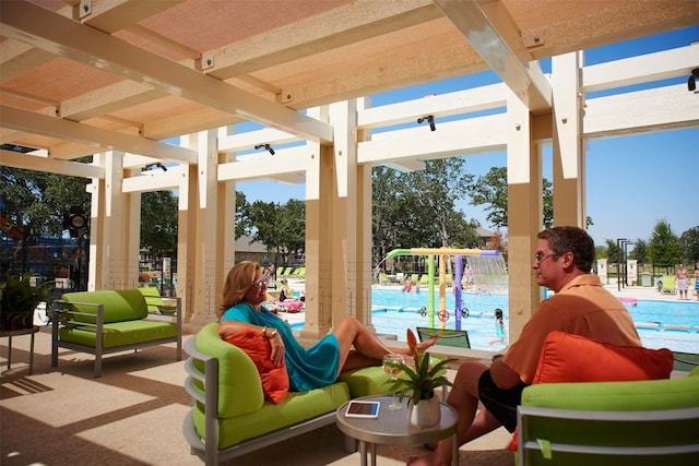
[[[508,226],[507,222],[507,168],[491,167],[474,182],[466,184],[466,192],[471,196],[471,205],[483,205],[486,218],[497,228]],[[543,181],[545,228],[554,226],[554,194],[552,183],[546,178]]]

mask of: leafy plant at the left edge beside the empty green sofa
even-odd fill
[[[47,287],[50,283],[32,286],[31,277],[32,274],[24,274],[22,279],[8,276],[0,283],[0,330],[31,328],[36,307],[42,301],[49,303]]]

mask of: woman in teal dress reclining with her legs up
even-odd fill
[[[236,264],[223,288],[218,310],[218,334],[222,338],[245,328],[253,328],[266,337],[275,365],[286,363],[289,390],[304,392],[334,383],[340,372],[379,366],[392,353],[376,335],[354,318],[344,318],[331,333],[316,345],[305,348],[292,328],[261,304],[266,299],[266,282],[256,262]],[[418,345],[419,350],[433,346],[437,336]],[[395,351],[393,351],[395,353]],[[401,350],[410,355],[410,349]]]

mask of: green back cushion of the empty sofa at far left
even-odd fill
[[[135,321],[145,319],[149,314],[145,299],[138,289],[67,292],[61,298],[72,301],[67,303],[64,309],[93,315],[97,314],[95,306],[82,306],[75,302],[104,304],[105,323]],[[96,321],[95,318],[85,315],[73,315],[73,320],[86,323]]]

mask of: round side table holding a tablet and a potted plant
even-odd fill
[[[429,429],[412,427],[407,420],[407,397],[403,399],[403,409],[390,410],[386,406],[391,404],[391,396],[364,396],[357,398],[366,402],[379,402],[379,417],[376,419],[345,417],[347,403],[337,408],[335,422],[345,434],[359,441],[362,466],[367,465],[367,445],[371,453],[371,465],[376,466],[376,445],[412,445],[431,443],[449,435],[453,435],[452,465],[459,466],[459,414],[441,402],[441,421]]]

